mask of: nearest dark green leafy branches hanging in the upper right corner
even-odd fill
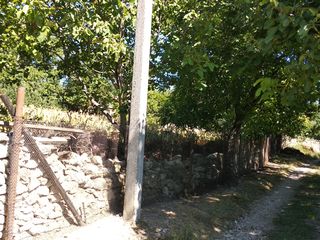
[[[320,3],[264,0],[260,4],[267,16],[261,48],[265,52],[276,52],[287,61],[283,69],[286,79],[273,82],[282,86],[282,101],[295,105],[305,93],[309,94],[309,101],[315,101],[319,91]],[[274,91],[266,87],[262,92]]]

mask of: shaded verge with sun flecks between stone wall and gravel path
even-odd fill
[[[241,178],[236,187],[217,187],[203,196],[160,202],[142,208],[139,230],[148,239],[217,239],[293,172],[295,161],[270,163]]]

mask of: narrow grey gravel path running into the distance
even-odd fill
[[[278,186],[270,195],[254,203],[250,212],[234,223],[234,226],[224,234],[221,240],[263,240],[265,234],[273,227],[273,218],[281,208],[293,197],[294,191],[300,185],[299,179],[308,173],[313,173],[308,167],[296,167],[288,179]]]

